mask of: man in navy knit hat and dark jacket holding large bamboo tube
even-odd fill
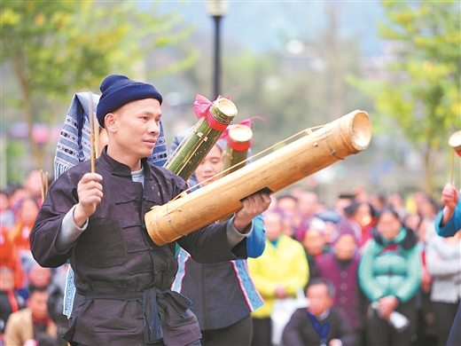
[[[38,263],[70,262],[82,295],[65,338],[73,345],[199,345],[190,300],[170,290],[175,244],[155,245],[145,213],[188,188],[167,169],[146,161],[159,135],[161,95],[151,85],[109,75],[100,87],[98,122],[108,145],[51,186],[31,235]],[[269,207],[257,193],[230,221],[210,224],[177,240],[200,263],[246,258],[252,219]],[[205,212],[205,211],[204,211]]]

